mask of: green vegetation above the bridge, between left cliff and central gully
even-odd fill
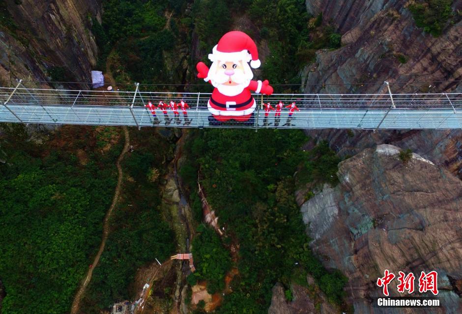
[[[113,53],[117,67],[111,70],[118,83],[177,80],[172,67],[164,62],[165,53],[173,52],[176,45],[174,29],[166,25],[165,16],[174,2],[178,1],[104,1],[102,25],[93,21],[92,27],[101,51],[97,68],[106,71],[106,60]]]

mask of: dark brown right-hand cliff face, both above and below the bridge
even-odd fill
[[[342,48],[319,51],[305,68],[306,93],[462,92],[462,22],[435,38],[415,25],[406,0],[307,0],[309,13],[322,12],[342,33]],[[461,1],[454,1],[456,11]],[[400,62],[404,57],[405,63]],[[452,80],[452,82],[436,82]],[[422,83],[432,81],[433,83]],[[353,85],[354,83],[378,83]],[[322,85],[308,85],[319,84]],[[340,84],[340,85],[328,85]],[[431,85],[431,86],[430,86]],[[341,155],[388,143],[412,149],[462,178],[462,132],[453,131],[306,131],[327,139]]]

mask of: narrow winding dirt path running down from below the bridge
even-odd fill
[[[84,295],[85,290],[87,289],[87,286],[90,283],[91,275],[93,274],[93,269],[95,269],[95,267],[98,265],[101,254],[103,253],[104,247],[106,246],[106,240],[108,239],[109,219],[111,218],[111,214],[115,208],[115,205],[117,204],[119,194],[120,194],[120,188],[122,185],[123,172],[122,172],[122,166],[120,165],[120,163],[123,160],[123,157],[125,157],[125,154],[128,152],[128,148],[130,147],[130,136],[128,133],[128,129],[127,127],[123,127],[122,130],[125,134],[125,144],[123,146],[122,152],[120,153],[120,156],[117,159],[117,162],[115,163],[115,165],[117,166],[117,170],[118,170],[118,179],[117,179],[117,186],[115,187],[114,198],[112,200],[111,207],[109,208],[108,212],[106,213],[106,216],[104,217],[103,237],[101,239],[101,244],[99,246],[98,253],[95,256],[95,259],[93,263],[91,264],[91,267],[88,269],[87,277],[85,278],[85,281],[83,282],[82,286],[80,286],[79,291],[75,295],[74,302],[72,302],[71,314],[77,314],[79,312],[80,301],[82,300],[82,296]]]

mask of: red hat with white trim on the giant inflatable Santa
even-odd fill
[[[254,69],[260,67],[257,45],[244,32],[233,30],[227,32],[218,41],[218,45],[213,47],[212,53],[208,55],[210,61],[250,61],[250,66]],[[252,61],[251,61],[252,60]]]

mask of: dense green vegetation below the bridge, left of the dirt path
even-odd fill
[[[45,145],[27,142],[22,125],[9,130],[0,163],[2,313],[68,313],[101,240],[121,145],[99,153],[91,128],[63,128]]]

